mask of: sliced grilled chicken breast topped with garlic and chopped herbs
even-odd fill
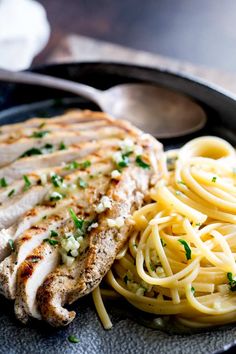
[[[1,127],[0,293],[20,321],[74,319],[65,306],[108,272],[162,161],[152,136],[101,112]]]

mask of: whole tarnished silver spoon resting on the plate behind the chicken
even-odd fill
[[[193,133],[206,123],[206,114],[183,94],[150,84],[122,84],[100,91],[74,81],[31,72],[0,69],[0,81],[46,86],[95,102],[115,118],[127,119],[157,138]]]

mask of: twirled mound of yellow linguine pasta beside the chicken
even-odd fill
[[[202,137],[166,155],[167,178],[134,213],[135,231],[106,282],[136,308],[189,327],[234,322],[235,150]]]

